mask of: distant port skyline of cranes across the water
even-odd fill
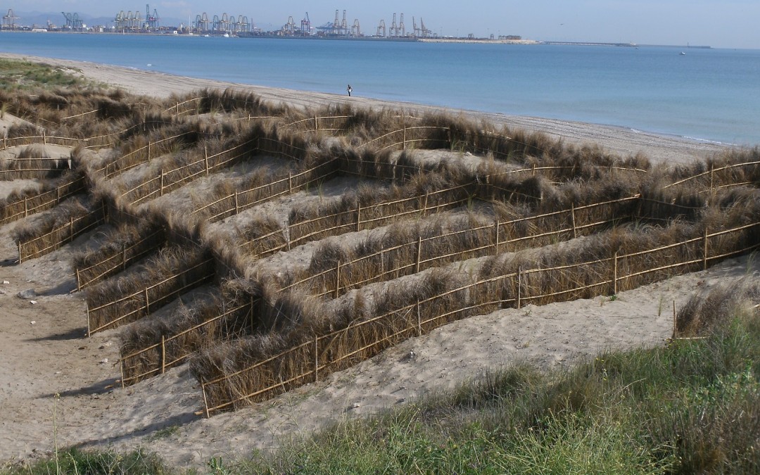
[[[335,11],[333,21],[328,21],[319,26],[312,25],[307,12],[300,21],[288,17],[282,27],[275,30],[261,30],[255,26],[252,17],[234,14],[207,14],[203,12],[195,15],[195,19],[188,17],[187,23],[166,26],[161,24],[161,18],[157,9],[151,11],[150,5],[145,5],[144,14],[139,11],[119,11],[105,25],[87,25],[78,12],[62,12],[62,23],[54,24],[46,21],[44,26],[36,24],[24,24],[23,18],[17,17],[12,9],[3,16],[2,30],[33,30],[33,31],[76,31],[96,33],[152,33],[152,34],[185,34],[201,36],[278,36],[278,37],[305,37],[305,38],[374,38],[393,40],[416,40],[432,39],[438,37],[426,27],[422,17],[419,24],[416,17],[412,17],[411,24],[404,22],[404,14],[393,14],[388,24],[381,19],[376,26],[373,24],[369,30],[363,30],[359,19],[353,21],[347,19],[347,11],[342,16],[340,10]],[[470,33],[467,38],[476,39]],[[493,35],[489,38],[495,40]],[[520,40],[519,36],[499,36],[499,40]]]

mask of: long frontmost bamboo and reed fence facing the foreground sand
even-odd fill
[[[264,401],[282,391],[287,391],[289,388],[297,387],[306,382],[318,382],[320,376],[325,377],[331,372],[368,359],[408,337],[424,334],[449,321],[477,315],[479,312],[492,312],[495,309],[508,307],[519,309],[528,303],[559,302],[603,293],[615,294],[622,290],[638,287],[637,284],[641,285],[642,282],[656,281],[676,274],[708,268],[714,262],[749,252],[760,245],[754,242],[746,248],[731,249],[729,252],[715,252],[714,255],[711,255],[711,249],[716,251],[720,249],[717,246],[710,245],[711,239],[720,239],[733,233],[748,233],[750,229],[756,226],[760,226],[760,223],[739,226],[719,233],[707,233],[705,231],[704,236],[687,239],[677,244],[623,255],[614,253],[609,257],[595,261],[556,268],[520,269],[515,273],[480,280],[458,289],[448,290],[445,293],[420,300],[392,312],[353,323],[347,328],[328,334],[315,335],[302,344],[236,372],[220,375],[208,381],[201,378],[204,413],[206,416],[211,416],[211,413],[220,410]],[[682,249],[684,255],[692,255],[695,249],[699,249],[701,256],[676,260],[671,257],[676,252],[674,251],[676,248],[684,248]],[[666,251],[670,253],[663,254]],[[626,273],[625,269],[640,267],[642,262],[657,263],[658,267],[652,266],[644,271]],[[570,283],[567,288],[551,293],[542,293],[540,287],[531,285],[531,280],[537,280],[534,276],[538,274],[554,276],[558,272],[571,276],[594,276],[594,279],[588,278],[586,281],[581,281],[578,280],[578,277],[572,277],[563,280]],[[498,298],[489,299],[489,295],[493,297],[494,283],[502,289],[502,293]],[[481,292],[481,294],[486,295],[486,298],[477,297],[477,290],[479,289],[486,290],[485,293]],[[511,289],[516,291],[504,291]],[[423,311],[423,307],[435,306],[436,302],[454,294],[458,297],[465,296],[465,298],[447,299],[448,310],[446,312],[432,312],[435,315],[434,317],[420,318],[420,315],[430,313]],[[452,303],[454,303],[453,306]],[[379,331],[378,328],[388,329],[392,333]],[[372,334],[377,334],[378,337],[374,340],[368,340],[367,335]],[[359,346],[357,347],[356,344]]]

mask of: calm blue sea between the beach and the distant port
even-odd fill
[[[760,144],[756,49],[5,31],[0,51]]]

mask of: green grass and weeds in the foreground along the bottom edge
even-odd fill
[[[604,353],[567,372],[493,372],[272,454],[213,459],[207,472],[760,473],[758,372],[760,321],[738,315],[704,340]],[[61,473],[170,471],[142,451],[59,460]],[[55,473],[55,463],[9,473]]]

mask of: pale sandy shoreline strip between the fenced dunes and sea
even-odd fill
[[[623,157],[644,154],[651,160],[666,163],[689,163],[692,160],[705,158],[711,154],[716,154],[733,147],[730,144],[715,144],[709,141],[663,135],[656,132],[641,131],[635,128],[627,128],[618,125],[593,124],[588,122],[532,116],[517,116],[499,112],[452,109],[440,106],[428,106],[419,103],[372,99],[369,97],[347,97],[334,93],[320,93],[281,87],[266,87],[228,81],[189,78],[157,71],[146,71],[138,68],[74,61],[70,59],[46,58],[35,55],[20,55],[8,52],[0,52],[0,58],[44,62],[57,67],[74,69],[77,72],[81,72],[84,78],[87,78],[90,81],[120,87],[129,93],[149,97],[169,97],[172,93],[182,94],[204,88],[232,88],[235,90],[255,93],[262,99],[274,103],[287,103],[292,106],[304,108],[343,103],[355,107],[386,107],[415,112],[448,112],[462,114],[470,119],[485,119],[496,125],[507,125],[510,128],[523,128],[527,131],[540,131],[550,137],[567,141],[575,145],[598,144],[605,150],[619,154]]]

